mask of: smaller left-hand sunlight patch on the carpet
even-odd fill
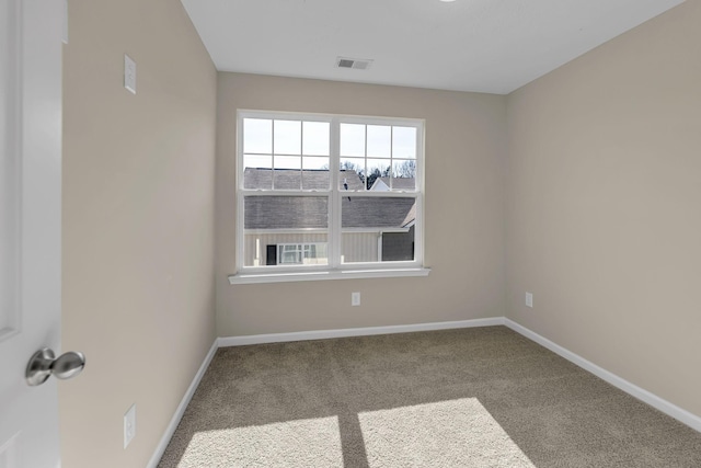
[[[179,467],[343,468],[336,416],[198,432]]]

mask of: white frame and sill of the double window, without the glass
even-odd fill
[[[243,186],[243,121],[244,118],[264,119],[294,119],[306,122],[326,122],[330,124],[330,178],[331,187],[323,190],[261,190],[244,189]],[[363,125],[393,125],[416,128],[416,176],[414,191],[392,190],[390,192],[341,191],[340,190],[340,128],[341,124]],[[377,117],[337,114],[309,114],[289,112],[268,112],[239,110],[237,112],[237,263],[234,274],[229,276],[231,284],[246,283],[275,283],[295,281],[319,281],[342,278],[370,278],[370,277],[398,277],[398,276],[426,276],[430,272],[425,267],[424,261],[424,132],[425,121],[418,118]],[[342,198],[355,194],[369,197],[415,197],[416,217],[414,224],[414,260],[392,262],[342,263],[342,228],[341,207]],[[277,264],[264,266],[246,266],[244,262],[244,196],[326,196],[329,198],[329,228],[327,228],[327,255],[326,265],[299,265]],[[353,195],[350,195],[353,196]],[[289,243],[318,243],[318,242],[289,242]]]

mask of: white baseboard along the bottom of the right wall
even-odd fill
[[[582,367],[585,370],[590,372],[591,374],[594,374],[595,376],[608,381],[609,384],[611,384],[613,387],[617,387],[621,390],[623,390],[624,392],[627,392],[628,395],[637,398],[639,400],[650,404],[653,408],[656,408],[657,410],[662,411],[663,413],[676,419],[677,421],[688,425],[691,429],[694,429],[696,431],[701,432],[701,418],[690,413],[689,411],[681,409],[679,407],[677,407],[676,404],[670,403],[667,400],[664,400],[659,397],[657,397],[656,395],[640,388],[639,386],[631,384],[630,381],[617,376],[613,373],[610,373],[608,370],[606,370],[602,367],[597,366],[596,364],[591,363],[590,361],[585,359],[584,357],[579,356],[578,354],[573,353],[572,351],[568,351],[564,347],[562,347],[561,345],[548,340],[544,336],[541,336],[540,334],[536,333],[535,331],[531,331],[529,329],[527,329],[526,327],[516,323],[515,321],[505,318],[504,319],[504,324],[506,327],[508,327],[509,329],[514,330],[517,333],[522,334],[524,336],[526,336],[527,339],[535,341],[536,343],[547,347],[548,350],[552,351],[555,354],[559,354],[560,356],[564,357],[565,359],[572,362],[573,364],[576,364],[577,366]]]

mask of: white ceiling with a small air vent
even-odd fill
[[[218,70],[497,94],[682,1],[182,0]]]

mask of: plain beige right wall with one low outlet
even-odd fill
[[[689,0],[509,95],[506,184],[508,317],[696,414],[699,24]]]

